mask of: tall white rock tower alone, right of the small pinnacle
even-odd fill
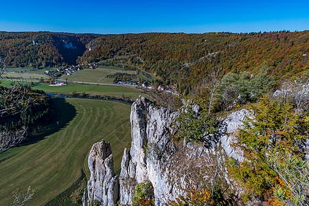
[[[172,186],[171,171],[165,171],[176,150],[170,139],[174,134],[173,120],[178,115],[166,108],[156,108],[146,98],[133,104],[130,115],[132,144],[129,151],[124,151],[119,176],[120,203],[130,204],[137,183],[146,181],[154,187],[157,204],[178,196],[176,187]]]

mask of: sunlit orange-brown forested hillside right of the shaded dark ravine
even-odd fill
[[[309,69],[309,31],[231,33],[145,33],[100,36],[91,42],[83,62],[115,55],[130,55],[137,65],[177,84],[183,93],[214,67],[223,71],[253,71],[262,65],[277,77],[294,76]]]

